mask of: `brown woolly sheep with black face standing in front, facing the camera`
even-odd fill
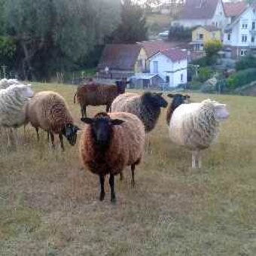
[[[143,123],[136,115],[124,112],[101,112],[81,120],[87,123],[80,141],[81,160],[90,172],[99,175],[101,201],[105,197],[105,175],[110,174],[111,202],[114,203],[114,175],[125,166],[131,166],[131,184],[135,185],[134,170],[142,160],[145,144]]]

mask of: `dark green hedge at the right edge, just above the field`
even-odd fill
[[[241,70],[227,78],[227,88],[234,90],[256,80],[256,69]]]

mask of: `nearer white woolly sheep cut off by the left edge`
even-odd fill
[[[25,108],[33,95],[30,84],[12,84],[0,90],[0,127],[8,128],[12,132],[12,128],[26,123]],[[7,135],[8,145],[11,145],[9,133]]]

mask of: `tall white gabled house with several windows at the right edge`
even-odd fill
[[[256,53],[256,5],[248,5],[224,31],[226,57],[239,59]]]

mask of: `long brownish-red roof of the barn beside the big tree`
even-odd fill
[[[142,46],[139,44],[107,44],[99,60],[98,69],[131,70]]]

